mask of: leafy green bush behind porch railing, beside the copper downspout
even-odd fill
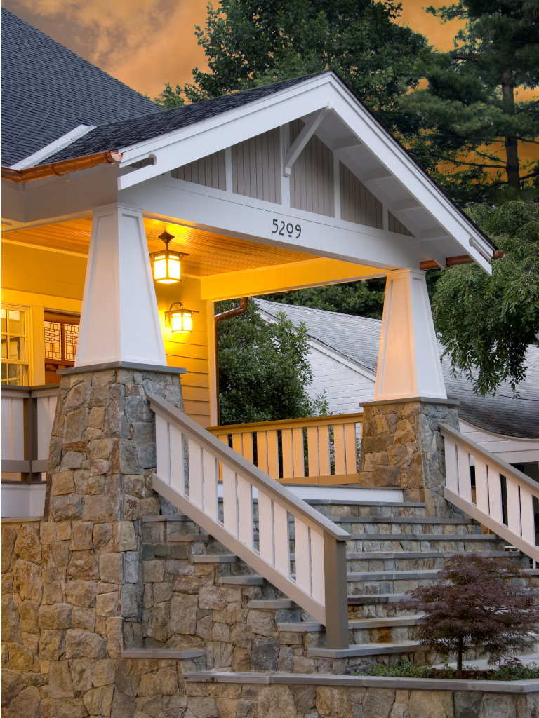
[[[216,303],[216,312],[237,306]],[[307,330],[294,327],[283,312],[268,324],[249,302],[247,312],[218,325],[220,424],[296,419],[327,413],[322,398],[311,401],[313,380]]]

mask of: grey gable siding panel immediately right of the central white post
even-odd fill
[[[290,123],[290,144],[303,129],[301,120]],[[335,187],[333,185],[333,152],[313,135],[292,165],[290,176],[290,207],[335,216]]]

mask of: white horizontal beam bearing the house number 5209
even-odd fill
[[[145,168],[144,168],[145,169]],[[142,207],[144,215],[239,239],[285,247],[298,252],[356,262],[379,269],[419,266],[419,243],[397,235],[334,217],[213,190],[172,177],[156,177],[119,193],[121,202]],[[300,224],[297,237],[277,239],[280,226]]]

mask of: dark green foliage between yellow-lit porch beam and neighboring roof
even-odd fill
[[[384,308],[385,278],[369,281],[349,281],[346,284],[313,286],[292,292],[264,294],[261,299],[282,304],[298,304],[300,307],[326,309],[328,312],[356,314],[359,317],[382,319]]]

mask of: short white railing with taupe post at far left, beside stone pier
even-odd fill
[[[1,470],[39,480],[47,471],[58,386],[2,386]]]

